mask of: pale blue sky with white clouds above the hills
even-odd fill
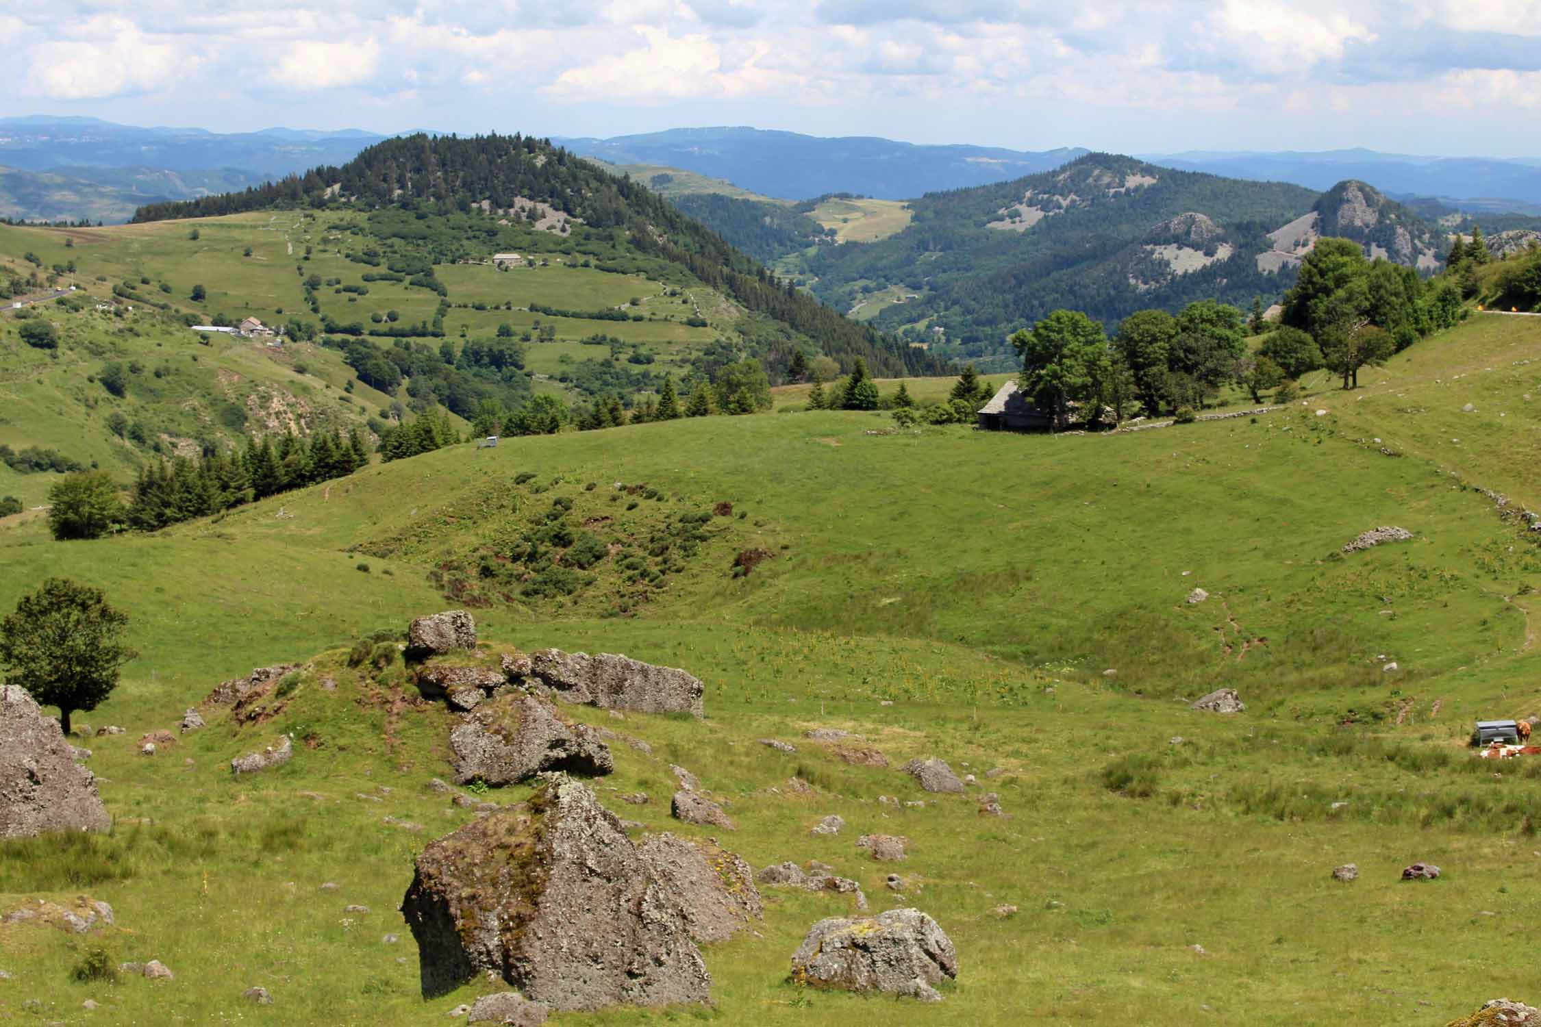
[[[0,114],[1538,156],[1541,0],[0,0]]]

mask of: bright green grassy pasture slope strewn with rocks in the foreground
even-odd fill
[[[336,693],[310,679],[262,728],[214,722],[166,758],[136,756],[133,739],[174,724],[222,677],[445,605],[413,560],[493,527],[493,514],[464,516],[467,497],[604,502],[606,488],[587,493],[587,480],[647,480],[669,496],[660,510],[730,500],[747,513],[734,545],[775,557],[735,580],[720,548],[706,547],[641,617],[593,619],[598,597],[498,607],[478,613],[484,637],[626,651],[700,674],[709,725],[615,725],[655,751],[616,747],[601,798],[646,790],[653,804],[627,815],[675,828],[667,764],[683,764],[730,799],[740,830],[724,841],[755,865],[824,859],[857,876],[875,908],[937,916],[959,945],[962,979],[935,1007],[883,1004],[905,1022],[1442,1022],[1493,995],[1526,995],[1532,959],[1481,913],[1538,912],[1526,835],[1536,771],[1495,778],[1458,751],[1479,713],[1541,711],[1541,656],[1527,641],[1527,617],[1541,610],[1519,594],[1541,585],[1541,560],[1490,500],[1459,485],[1541,505],[1535,460],[1513,459],[1533,451],[1541,428],[1521,399],[1541,396],[1541,326],[1516,320],[1476,319],[1421,343],[1367,376],[1364,399],[1319,394],[1256,422],[1046,437],[874,436],[885,417],[844,413],[712,419],[510,440],[475,456],[452,448],[149,539],[59,547],[35,524],[0,527],[0,608],[45,571],[92,580],[133,611],[145,651],[114,697],[79,718],[131,728],[94,744],[117,830],[71,842],[100,851],[68,861],[57,858],[63,842],[12,844],[0,892],[105,898],[123,925],[109,936],[114,955],[156,956],[179,975],[162,989],[68,985],[71,939],[6,928],[0,959],[15,981],[0,1009],[43,995],[68,1015],[92,996],[116,1022],[239,1013],[259,1024],[407,1024],[482,990],[425,1009],[393,912],[411,855],[467,816],[424,788],[445,776],[442,714],[393,718],[342,676]],[[1476,413],[1461,413],[1465,402]],[[513,485],[524,470],[541,477]],[[532,491],[558,474],[562,483]],[[277,517],[279,507],[293,516]],[[1378,524],[1418,537],[1333,556]],[[431,544],[370,557],[368,574],[342,551],[428,528]],[[1182,602],[1194,585],[1211,593],[1207,604]],[[1237,659],[1257,637],[1267,644]],[[1384,673],[1382,654],[1401,670]],[[1247,714],[1208,718],[1173,701],[1227,684],[1242,690]],[[895,770],[849,767],[797,738],[815,724],[863,731],[895,765],[935,751],[972,771],[1006,767],[989,787],[1012,816],[983,818],[966,798],[881,805],[878,795],[922,796]],[[274,730],[325,744],[267,778],[230,782],[223,761]],[[755,744],[770,736],[800,751]],[[1130,795],[1105,787],[1105,767]],[[770,791],[792,773],[820,798]],[[826,813],[851,827],[811,838]],[[427,830],[402,831],[385,815]],[[153,824],[125,822],[139,816]],[[911,858],[858,859],[854,835],[872,830],[909,836]],[[1445,876],[1399,884],[1416,859]],[[1348,888],[1327,876],[1344,861],[1362,873]],[[889,870],[918,887],[891,893]],[[342,887],[319,892],[324,881]],[[872,999],[784,982],[807,924],[844,902],[772,888],[766,898],[763,938],[707,952],[710,1015],[871,1015]],[[347,915],[348,902],[373,912]],[[997,919],[1002,902],[1019,912]],[[384,944],[387,932],[401,941]],[[1413,952],[1419,973],[1402,981]],[[251,984],[277,1004],[243,1007]]]

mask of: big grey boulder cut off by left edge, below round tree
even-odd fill
[[[96,774],[76,762],[59,721],[26,690],[0,687],[0,838],[109,825]]]

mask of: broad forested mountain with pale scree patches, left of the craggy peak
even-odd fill
[[[1193,299],[1276,297],[1293,266],[1273,269],[1257,256],[1273,248],[1268,232],[1316,200],[1301,186],[1088,154],[1056,171],[912,200],[905,231],[820,248],[804,262],[806,280],[841,309],[901,293],[874,323],[972,359],[1002,353],[1011,331],[1062,306],[1116,322]]]

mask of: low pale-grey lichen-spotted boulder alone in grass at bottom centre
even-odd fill
[[[844,992],[886,992],[940,1001],[932,987],[957,978],[957,953],[920,910],[821,919],[792,956],[792,979]]]

